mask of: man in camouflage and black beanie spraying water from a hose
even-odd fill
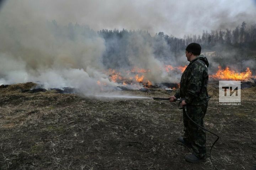
[[[186,57],[190,64],[182,74],[180,90],[175,96],[170,97],[170,102],[175,98],[184,98],[182,106],[186,106],[188,116],[203,127],[203,118],[206,114],[210,97],[207,92],[208,60],[200,55],[201,46],[191,43],[186,48]],[[206,133],[194,124],[183,109],[184,137],[179,137],[178,142],[192,148],[193,153],[185,156],[188,162],[199,162],[206,158]]]

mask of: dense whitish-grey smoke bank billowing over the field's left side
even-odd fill
[[[0,83],[34,81],[44,88],[75,87],[93,91],[100,80],[115,85],[101,72],[104,40],[88,27],[60,27],[54,22],[2,22]],[[69,28],[70,27],[70,28]],[[75,27],[76,28],[76,27]]]

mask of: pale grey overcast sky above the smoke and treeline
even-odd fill
[[[60,24],[87,24],[94,30],[142,29],[183,38],[202,30],[255,24],[256,0],[7,0],[0,19],[35,24],[55,19]]]

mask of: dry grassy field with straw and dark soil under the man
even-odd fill
[[[35,84],[0,89],[0,169],[182,169],[213,170],[207,133],[207,159],[185,161],[190,151],[176,142],[182,135],[177,103],[98,100],[56,91],[22,92]],[[220,140],[212,151],[219,169],[256,169],[256,88],[241,91],[241,106],[219,106],[209,85],[205,127]],[[168,97],[165,90],[123,91]]]

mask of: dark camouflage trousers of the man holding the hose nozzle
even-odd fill
[[[187,105],[188,116],[198,125],[204,127],[204,115],[206,114],[208,102],[199,106]],[[198,158],[206,157],[206,132],[194,124],[183,109],[184,141],[191,143],[193,154]]]

